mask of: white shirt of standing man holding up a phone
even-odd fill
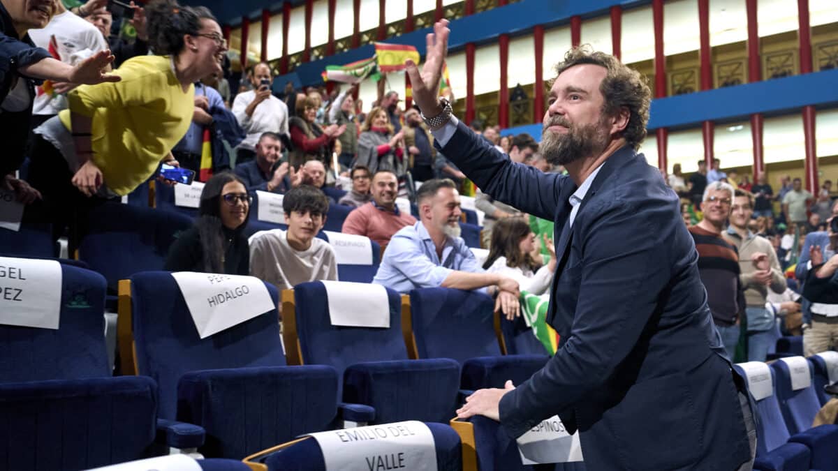
[[[245,130],[247,137],[239,147],[255,150],[256,142],[263,132],[276,132],[288,136],[288,106],[276,96],[270,96],[256,105],[252,116],[247,116],[245,110],[256,99],[256,91],[243,91],[235,96],[233,114],[239,126]]]

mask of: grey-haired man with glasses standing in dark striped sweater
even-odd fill
[[[698,272],[707,291],[707,304],[730,360],[739,342],[738,314],[744,307],[737,249],[722,238],[732,202],[730,184],[708,184],[701,202],[704,219],[690,228],[698,250]]]

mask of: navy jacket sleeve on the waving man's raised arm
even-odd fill
[[[572,185],[568,177],[513,163],[463,122],[444,148],[437,142],[437,149],[485,194],[543,219],[554,219],[562,187]]]

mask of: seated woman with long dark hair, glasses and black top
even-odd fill
[[[169,272],[250,274],[244,229],[251,207],[244,182],[234,173],[215,174],[204,184],[195,224],[168,251]]]

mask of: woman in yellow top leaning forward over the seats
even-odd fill
[[[76,88],[70,108],[35,129],[29,180],[44,194],[56,237],[70,225],[78,242],[92,206],[130,193],[161,161],[173,161],[192,122],[194,82],[221,73],[226,42],[207,8],[155,0],[145,11],[159,55],[127,60],[119,82]]]

